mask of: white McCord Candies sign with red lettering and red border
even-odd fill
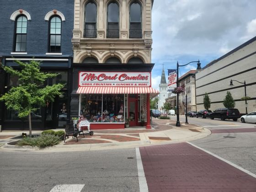
[[[79,72],[79,86],[150,87],[149,72]]]

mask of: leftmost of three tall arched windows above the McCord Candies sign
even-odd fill
[[[85,27],[84,37],[96,38],[97,37],[97,7],[93,2],[85,5]]]

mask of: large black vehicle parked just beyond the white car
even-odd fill
[[[237,121],[240,116],[241,115],[238,109],[218,108],[213,111],[210,118],[220,118],[222,121],[224,121],[225,119],[233,119],[233,121]]]

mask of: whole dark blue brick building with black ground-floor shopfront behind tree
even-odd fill
[[[42,71],[60,74],[48,80],[48,85],[66,83],[63,95],[32,114],[33,129],[62,127],[67,121],[70,101],[74,1],[0,0],[0,5],[0,62],[18,68],[14,59],[39,60]],[[16,85],[18,79],[0,69],[0,95]],[[6,110],[2,102],[0,126],[2,130],[27,129],[28,122],[18,118],[17,112]]]

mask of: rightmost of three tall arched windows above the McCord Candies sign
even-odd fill
[[[137,2],[130,5],[129,38],[142,38],[141,6]]]

